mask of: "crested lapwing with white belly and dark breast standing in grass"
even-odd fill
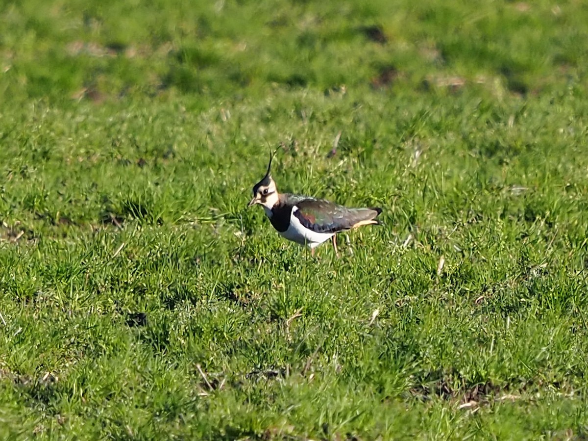
[[[262,205],[273,228],[278,234],[290,241],[310,248],[315,255],[315,248],[331,239],[337,249],[336,234],[364,225],[381,225],[376,220],[382,208],[347,208],[325,199],[318,199],[298,194],[279,193],[272,178],[273,154],[270,152],[268,171],[253,186],[253,198],[247,207]]]

